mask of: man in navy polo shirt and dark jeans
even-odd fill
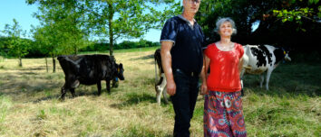
[[[200,0],[183,0],[183,13],[170,18],[160,35],[161,63],[175,111],[175,137],[190,136],[190,119],[199,95],[199,74],[203,74],[200,71],[204,34],[194,20],[199,4]]]

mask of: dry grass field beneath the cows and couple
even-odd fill
[[[170,137],[172,105],[157,105],[155,98],[155,49],[115,50],[125,69],[120,86],[108,95],[102,82],[102,96],[96,95],[96,86],[80,86],[77,97],[68,92],[63,102],[58,100],[64,83],[59,64],[56,73],[47,73],[44,59],[23,59],[23,68],[17,67],[18,59],[1,59],[0,136]],[[272,73],[269,91],[258,87],[258,76],[246,76],[248,136],[321,136],[320,70],[319,62],[281,64]],[[203,136],[202,114],[199,96],[193,137]]]

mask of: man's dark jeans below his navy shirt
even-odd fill
[[[190,119],[199,95],[199,77],[180,69],[174,69],[173,76],[176,94],[170,97],[175,111],[174,137],[189,137]]]

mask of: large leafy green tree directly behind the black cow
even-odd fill
[[[53,19],[54,22],[72,21],[66,30],[84,32],[98,36],[103,41],[108,38],[110,55],[113,43],[119,38],[140,38],[151,28],[160,29],[163,21],[180,13],[180,2],[174,0],[26,0],[29,5],[38,3],[48,12],[39,18]],[[163,5],[162,5],[163,4]],[[166,6],[168,5],[168,6]],[[164,6],[163,11],[154,7]],[[51,9],[51,10],[48,10]],[[54,11],[56,12],[50,12]],[[66,20],[65,20],[66,19]],[[67,20],[68,19],[68,20]],[[79,29],[79,30],[78,30]],[[82,30],[82,31],[80,31]],[[75,35],[74,40],[82,36]]]

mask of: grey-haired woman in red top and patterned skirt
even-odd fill
[[[201,91],[205,95],[204,136],[247,136],[239,79],[244,50],[230,41],[237,32],[233,20],[221,18],[216,26],[220,41],[209,44],[204,51],[205,72],[210,68]]]

